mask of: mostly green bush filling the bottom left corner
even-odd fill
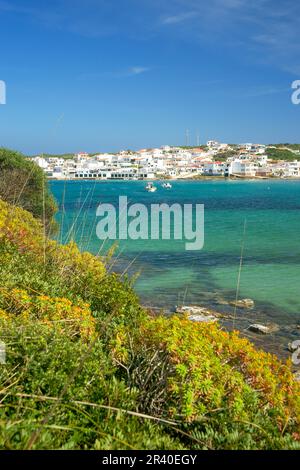
[[[1,449],[182,449],[164,426],[128,414],[136,393],[118,381],[97,340],[37,321],[0,319]]]

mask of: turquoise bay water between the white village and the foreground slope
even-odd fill
[[[147,193],[144,182],[51,182],[61,208],[60,238],[104,253],[109,244],[96,237],[96,208],[100,202],[117,206],[120,195],[146,205],[202,203],[201,251],[185,251],[184,242],[174,240],[120,241],[113,269],[139,273],[136,290],[149,306],[172,310],[193,303],[229,312],[232,307],[220,305],[220,299],[235,298],[246,220],[240,297],[252,298],[255,309],[238,312],[240,328],[252,320],[273,321],[282,326],[283,337],[296,334],[291,325],[300,322],[300,181],[172,184],[166,190],[157,183],[157,192]]]

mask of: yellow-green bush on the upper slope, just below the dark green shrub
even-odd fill
[[[87,302],[93,315],[117,322],[142,314],[128,279],[106,271],[104,260],[81,253],[74,242],[44,238],[41,224],[20,208],[0,201],[0,275],[10,288]],[[76,303],[76,302],[75,302]]]

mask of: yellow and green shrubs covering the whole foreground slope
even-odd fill
[[[151,317],[105,259],[43,234],[0,201],[1,448],[300,448],[290,364]]]

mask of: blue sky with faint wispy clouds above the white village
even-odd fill
[[[298,0],[0,0],[0,146],[300,142]]]

